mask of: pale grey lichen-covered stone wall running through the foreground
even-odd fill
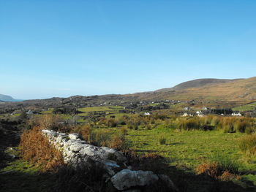
[[[132,171],[132,167],[127,166],[127,158],[118,150],[90,145],[80,139],[78,134],[64,134],[49,130],[42,130],[42,134],[48,137],[51,145],[62,152],[66,164],[79,167],[82,164],[90,165],[94,162],[102,166],[108,172],[106,182],[110,181],[118,191],[129,191],[129,189],[140,191],[136,187],[152,185],[159,180],[162,180],[170,191],[176,191],[167,175],[157,175],[149,171]]]

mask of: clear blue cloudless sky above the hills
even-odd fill
[[[255,0],[0,0],[0,93],[135,93],[254,77]]]

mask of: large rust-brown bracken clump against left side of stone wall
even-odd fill
[[[34,127],[24,131],[20,138],[20,151],[26,161],[42,167],[42,172],[55,170],[64,164],[61,152],[48,142],[41,134],[42,128]]]

